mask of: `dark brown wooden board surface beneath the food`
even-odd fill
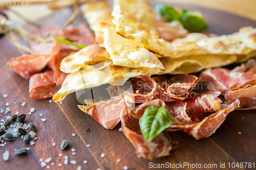
[[[243,26],[256,27],[255,21],[236,15],[205,8],[188,8],[197,9],[203,13],[210,26],[207,32],[210,33],[230,34]],[[71,13],[72,10],[69,8],[62,9],[38,23],[63,26]],[[85,22],[81,14],[74,25],[77,26],[80,22]],[[20,137],[15,138],[14,141],[5,141],[6,145],[0,147],[0,169],[46,169],[46,167],[40,166],[39,159],[45,160],[49,157],[55,164],[47,163],[51,169],[76,169],[78,166],[81,166],[82,169],[123,169],[125,165],[129,169],[150,169],[150,162],[175,164],[187,162],[202,165],[216,163],[218,168],[215,169],[220,169],[221,162],[225,163],[223,169],[228,169],[229,162],[256,163],[255,110],[231,112],[216,133],[205,139],[196,140],[180,131],[171,132],[172,139],[179,142],[178,148],[170,152],[169,156],[146,160],[137,157],[132,144],[119,131],[120,123],[113,130],[105,130],[92,117],[78,109],[74,93],[68,95],[63,104],[49,103],[50,99],[41,101],[30,99],[28,80],[18,76],[6,66],[12,57],[19,55],[20,53],[6,37],[0,39],[0,109],[5,109],[5,103],[9,103],[11,110],[8,114],[2,114],[0,119],[13,115],[16,111],[27,114],[25,123],[33,122],[38,127],[37,140],[34,141],[33,146],[25,144]],[[8,97],[3,98],[3,94],[8,94]],[[24,107],[20,105],[22,102],[26,102]],[[35,111],[28,115],[31,107],[34,107]],[[46,118],[46,121],[42,122],[41,118]],[[72,136],[72,133],[75,136]],[[64,139],[69,140],[70,144],[69,149],[62,151],[59,146]],[[56,143],[56,145],[53,146],[52,143]],[[90,144],[90,147],[87,147],[87,144]],[[15,149],[24,147],[31,148],[27,155],[17,156],[14,154]],[[72,155],[71,148],[76,150],[75,155]],[[5,151],[10,153],[8,161],[3,161]],[[102,153],[105,155],[103,158],[101,158]],[[58,156],[59,154],[67,155],[69,161],[76,160],[76,164],[69,162],[68,165],[64,165],[64,158]],[[117,159],[120,159],[120,162]],[[84,164],[84,160],[87,160],[88,163]],[[57,166],[59,163],[62,166]]]

